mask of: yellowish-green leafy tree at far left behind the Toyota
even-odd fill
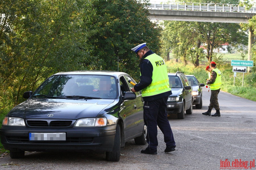
[[[93,65],[90,1],[9,0],[0,11],[0,107],[20,103],[53,73]]]

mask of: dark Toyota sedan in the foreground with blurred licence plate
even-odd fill
[[[119,161],[125,142],[146,144],[141,92],[131,92],[129,80],[135,82],[113,71],[52,75],[6,115],[1,143],[11,158],[23,158],[24,151],[94,150]]]

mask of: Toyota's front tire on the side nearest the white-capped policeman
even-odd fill
[[[119,124],[116,125],[115,129],[115,141],[113,150],[111,152],[106,152],[106,160],[111,162],[118,162],[120,160],[120,150],[121,150],[121,133]]]

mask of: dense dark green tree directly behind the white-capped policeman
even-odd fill
[[[101,58],[101,67],[97,69],[127,72],[138,80],[139,58],[131,48],[146,42],[154,52],[159,52],[161,28],[148,19],[145,3],[136,0],[94,2],[94,24],[100,31],[90,42],[94,46],[92,54]]]

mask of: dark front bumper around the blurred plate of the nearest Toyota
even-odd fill
[[[10,151],[81,151],[110,152],[113,149],[116,125],[104,127],[28,128],[2,126],[1,143]],[[65,141],[29,141],[29,133],[66,133]]]

